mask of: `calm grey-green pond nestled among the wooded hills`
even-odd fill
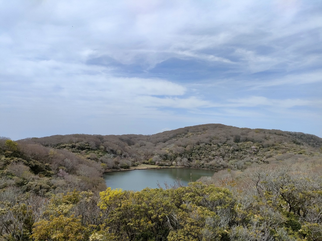
[[[194,182],[202,176],[212,176],[215,172],[195,168],[153,168],[108,172],[104,175],[104,179],[106,185],[112,189],[122,188],[123,190],[140,191],[146,187],[157,188],[158,182],[162,187],[165,187],[165,182],[168,185],[173,185],[177,177],[181,179],[183,184],[187,185],[190,178]]]

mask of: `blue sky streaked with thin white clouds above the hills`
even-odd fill
[[[0,136],[322,137],[322,1],[0,0]]]

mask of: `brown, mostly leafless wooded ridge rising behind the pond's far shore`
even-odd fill
[[[146,163],[242,170],[250,165],[296,155],[314,156],[322,147],[322,138],[310,134],[222,124],[197,125],[154,135],[73,134],[27,138],[18,142],[29,148],[31,144],[37,144],[33,146],[35,149],[41,145],[67,150],[82,159],[102,164],[104,169],[126,169]],[[66,165],[70,164],[57,165],[68,169]]]

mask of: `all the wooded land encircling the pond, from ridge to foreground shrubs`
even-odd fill
[[[111,190],[141,164],[219,170]],[[322,240],[322,138],[207,124],[155,135],[0,138],[4,240]]]

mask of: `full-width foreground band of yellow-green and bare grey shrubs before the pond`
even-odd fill
[[[17,227],[12,235],[2,237],[35,241],[318,241],[322,235],[321,181],[288,175],[280,173],[271,179],[263,175],[267,179],[260,183],[266,185],[265,192],[251,195],[200,182],[140,192],[107,188],[99,198],[74,190],[54,195],[35,223],[31,206],[0,203],[1,217],[13,215],[10,222]],[[303,183],[306,188],[301,189]]]

